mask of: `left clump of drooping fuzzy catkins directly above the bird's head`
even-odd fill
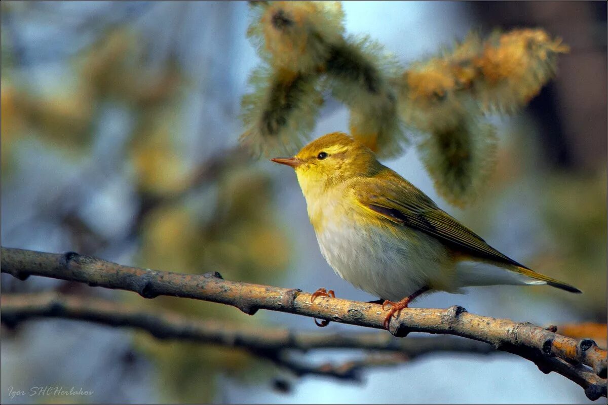
[[[265,61],[243,98],[241,141],[255,155],[294,152],[314,128],[324,90],[351,112],[353,136],[383,157],[407,145],[398,65],[368,38],[344,37],[339,2],[256,5],[248,35]]]

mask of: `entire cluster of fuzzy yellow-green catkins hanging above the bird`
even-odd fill
[[[331,94],[350,111],[351,135],[381,157],[401,154],[418,134],[437,191],[459,206],[492,171],[488,115],[525,106],[568,50],[541,29],[471,33],[406,68],[381,44],[346,35],[340,2],[251,3],[248,34],[263,64],[243,97],[244,145],[254,154],[294,153]]]

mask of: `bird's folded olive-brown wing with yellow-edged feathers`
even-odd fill
[[[452,218],[422,191],[390,169],[353,185],[357,202],[381,220],[423,231],[472,257],[525,268],[492,248],[481,237]],[[528,269],[529,270],[529,269]]]

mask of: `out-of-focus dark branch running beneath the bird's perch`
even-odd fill
[[[2,323],[11,329],[21,322],[40,318],[64,318],[112,327],[137,328],[156,339],[176,339],[244,349],[252,355],[275,362],[277,366],[284,367],[297,376],[314,374],[358,380],[359,373],[366,368],[395,366],[434,353],[501,353],[483,342],[447,336],[398,339],[387,333],[328,335],[324,332],[294,332],[262,325],[243,327],[227,322],[188,319],[168,310],[145,311],[134,305],[108,299],[57,293],[4,294],[1,304]],[[337,366],[330,363],[311,366],[305,360],[296,360],[289,355],[291,351],[317,349],[359,349],[370,352],[370,356]],[[378,351],[393,352],[393,355],[374,355],[373,352]]]

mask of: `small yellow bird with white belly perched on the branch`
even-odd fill
[[[492,248],[344,132],[271,160],[295,169],[323,257],[342,279],[379,297],[370,302],[382,303],[387,329],[429,291],[546,284],[581,293]],[[317,296],[335,293],[319,288],[311,300]]]

